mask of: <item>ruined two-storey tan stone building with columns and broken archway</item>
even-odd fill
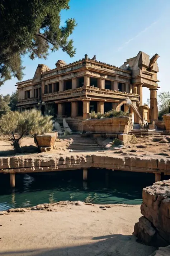
[[[81,121],[91,111],[104,113],[110,109],[130,112],[134,123],[157,120],[157,58],[140,51],[115,67],[85,54],[71,64],[58,60],[56,68],[39,64],[32,79],[18,82],[18,110],[38,108],[52,113],[58,121],[66,117],[73,130],[81,130]],[[142,87],[150,90],[150,109],[142,106]]]

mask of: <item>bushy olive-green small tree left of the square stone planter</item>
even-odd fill
[[[16,153],[22,153],[20,141],[26,135],[32,135],[36,139],[37,134],[43,134],[52,130],[52,117],[42,116],[41,112],[32,109],[22,113],[10,111],[0,119],[0,133],[9,135],[11,145]],[[38,144],[36,144],[38,146]]]

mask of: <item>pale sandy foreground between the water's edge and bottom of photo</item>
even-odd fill
[[[102,205],[103,206],[103,205]],[[140,206],[60,202],[46,210],[0,215],[3,256],[148,256],[132,235]]]

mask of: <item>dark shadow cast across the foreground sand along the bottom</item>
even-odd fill
[[[137,243],[133,235],[113,234],[93,237],[99,240],[79,246],[62,248],[42,248],[35,250],[0,252],[1,256],[148,256],[155,247]],[[33,244],[35,247],[36,244]],[[57,244],[56,244],[57,246]]]

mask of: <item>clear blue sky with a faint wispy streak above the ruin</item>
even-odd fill
[[[61,23],[74,17],[78,23],[70,38],[77,49],[74,58],[61,50],[50,53],[47,60],[23,58],[24,77],[30,79],[38,64],[55,68],[58,59],[71,63],[85,54],[120,67],[128,58],[144,51],[150,57],[160,55],[159,92],[169,91],[170,73],[170,0],[70,0],[70,10],[61,12]],[[0,87],[0,94],[16,90],[13,78]],[[143,89],[143,102],[149,98]]]

